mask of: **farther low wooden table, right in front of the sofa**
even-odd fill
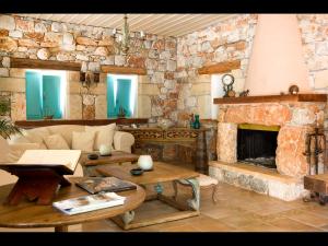
[[[99,152],[93,152],[99,155]],[[80,163],[83,168],[84,176],[97,176],[95,168],[99,165],[113,164],[113,163],[124,163],[131,162],[136,163],[139,159],[138,154],[131,154],[124,151],[113,151],[109,156],[101,156],[97,160],[90,160],[87,155],[90,153],[82,153],[80,157]]]

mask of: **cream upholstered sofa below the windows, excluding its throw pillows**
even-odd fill
[[[82,125],[58,125],[49,127],[39,127],[23,130],[23,134],[11,136],[4,140],[0,136],[0,163],[15,163],[25,150],[47,149],[44,138],[47,136],[60,133],[72,148],[72,132],[84,131],[85,126]],[[113,148],[116,151],[131,152],[131,145],[134,143],[134,137],[129,132],[114,131]],[[82,167],[79,165],[74,176],[83,176]],[[0,169],[0,185],[16,181],[16,177]]]

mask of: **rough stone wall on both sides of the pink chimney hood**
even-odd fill
[[[316,92],[327,93],[328,15],[297,14],[297,20],[311,86]],[[179,124],[184,125],[191,113],[200,114],[200,118],[211,116],[211,77],[199,75],[199,68],[239,60],[241,68],[231,73],[235,77],[234,90],[237,93],[244,90],[256,25],[256,14],[237,14],[220,24],[178,37],[176,79],[179,87]]]

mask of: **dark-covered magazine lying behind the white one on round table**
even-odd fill
[[[77,186],[85,189],[90,194],[102,191],[119,192],[137,189],[136,185],[116,177],[86,177],[78,181]]]

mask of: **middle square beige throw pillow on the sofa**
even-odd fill
[[[73,131],[72,150],[92,152],[94,145],[95,132],[92,131]]]

